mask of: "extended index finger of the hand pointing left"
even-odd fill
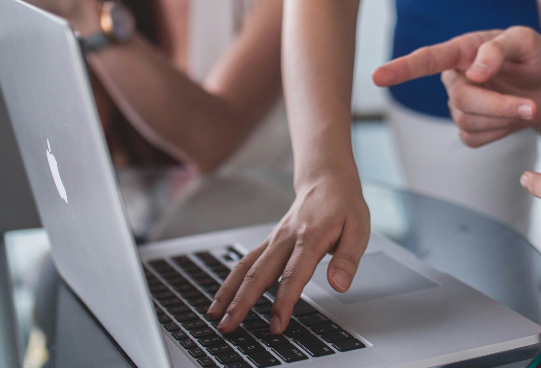
[[[467,67],[473,62],[479,46],[501,32],[492,30],[466,33],[447,42],[421,47],[380,66],[372,74],[372,79],[375,85],[387,87],[447,69]]]

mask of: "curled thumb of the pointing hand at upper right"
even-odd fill
[[[535,45],[541,46],[541,36],[533,29],[523,26],[508,28],[479,46],[466,77],[474,83],[485,83],[502,70],[505,62],[521,62],[532,52],[539,51]]]

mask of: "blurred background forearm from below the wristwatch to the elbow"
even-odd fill
[[[235,120],[233,108],[189,80],[142,37],[88,60],[128,120],[173,157],[206,170],[235,147],[237,125],[228,124]],[[219,137],[229,139],[215,142]]]

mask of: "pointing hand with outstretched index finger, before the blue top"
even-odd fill
[[[514,26],[466,33],[379,67],[378,86],[441,73],[453,120],[466,145],[478,147],[541,126],[541,36]]]

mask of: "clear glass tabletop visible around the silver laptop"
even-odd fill
[[[130,221],[141,241],[278,221],[294,198],[292,176],[278,173],[190,178],[176,170],[129,171],[121,172],[119,179]],[[431,267],[541,323],[541,255],[523,237],[484,216],[421,195],[366,182],[364,193],[373,231]],[[43,240],[43,233],[32,231],[8,234],[5,241],[11,270],[28,277],[34,274],[36,280],[32,314],[24,315],[16,300],[19,321],[29,328],[21,334],[21,353],[17,356],[11,349],[4,359],[6,366],[21,366],[23,361],[36,367],[130,366],[108,333],[58,277],[49,257],[38,271],[20,270],[17,260],[24,247],[31,247],[39,236]],[[21,277],[15,276],[17,280]],[[8,317],[2,314],[0,318]],[[16,339],[14,336],[8,343],[17,345]],[[452,366],[524,367],[538,348],[530,346]],[[0,359],[0,366],[2,363]]]

